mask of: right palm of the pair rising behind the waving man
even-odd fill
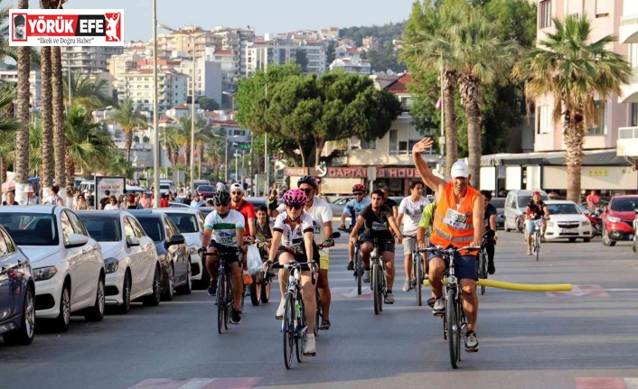
[[[506,81],[519,46],[501,41],[498,27],[472,11],[454,29],[456,59],[461,64],[459,95],[467,116],[467,148],[472,186],[481,182],[481,122],[483,87]]]

